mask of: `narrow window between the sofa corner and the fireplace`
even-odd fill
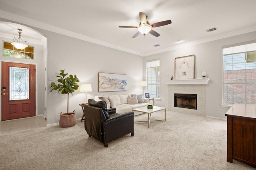
[[[160,98],[160,61],[147,63],[148,93],[151,98]]]

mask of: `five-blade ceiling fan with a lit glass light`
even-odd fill
[[[156,31],[154,31],[153,29],[151,28],[154,28],[154,27],[160,27],[160,26],[164,26],[164,25],[168,25],[172,23],[171,20],[166,20],[166,21],[161,21],[161,22],[157,22],[157,23],[153,23],[153,24],[150,24],[148,21],[147,21],[147,16],[144,12],[140,12],[140,25],[138,27],[135,27],[135,26],[119,26],[120,28],[138,28],[138,32],[136,34],[134,34],[132,36],[132,38],[135,38],[137,37],[140,33],[142,33],[144,36],[147,34],[147,33],[150,33],[152,35],[154,35],[155,37],[158,37],[160,36],[159,33],[157,33]]]

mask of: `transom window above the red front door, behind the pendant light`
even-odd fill
[[[20,59],[34,59],[34,47],[28,46],[23,50],[16,49],[11,43],[4,42],[4,57],[15,57]]]

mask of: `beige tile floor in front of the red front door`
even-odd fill
[[[38,127],[46,127],[46,120],[42,116],[28,117],[22,119],[14,119],[0,122],[0,136],[8,135],[34,129]]]

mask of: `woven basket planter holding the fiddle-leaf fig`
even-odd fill
[[[76,125],[76,111],[72,113],[60,113],[60,127],[71,127]]]

